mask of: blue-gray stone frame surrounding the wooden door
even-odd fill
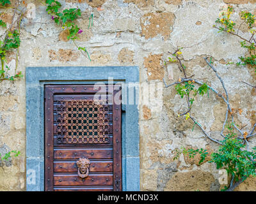
[[[122,189],[140,191],[138,66],[26,68],[27,191],[44,191],[44,85],[108,84],[109,79],[122,84],[125,102],[134,101],[122,104]]]

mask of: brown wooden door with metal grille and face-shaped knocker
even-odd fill
[[[45,85],[45,191],[122,191],[120,90]]]

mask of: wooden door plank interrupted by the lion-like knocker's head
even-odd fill
[[[91,161],[90,172],[112,172],[113,161]],[[55,173],[77,173],[76,161],[54,161]]]

